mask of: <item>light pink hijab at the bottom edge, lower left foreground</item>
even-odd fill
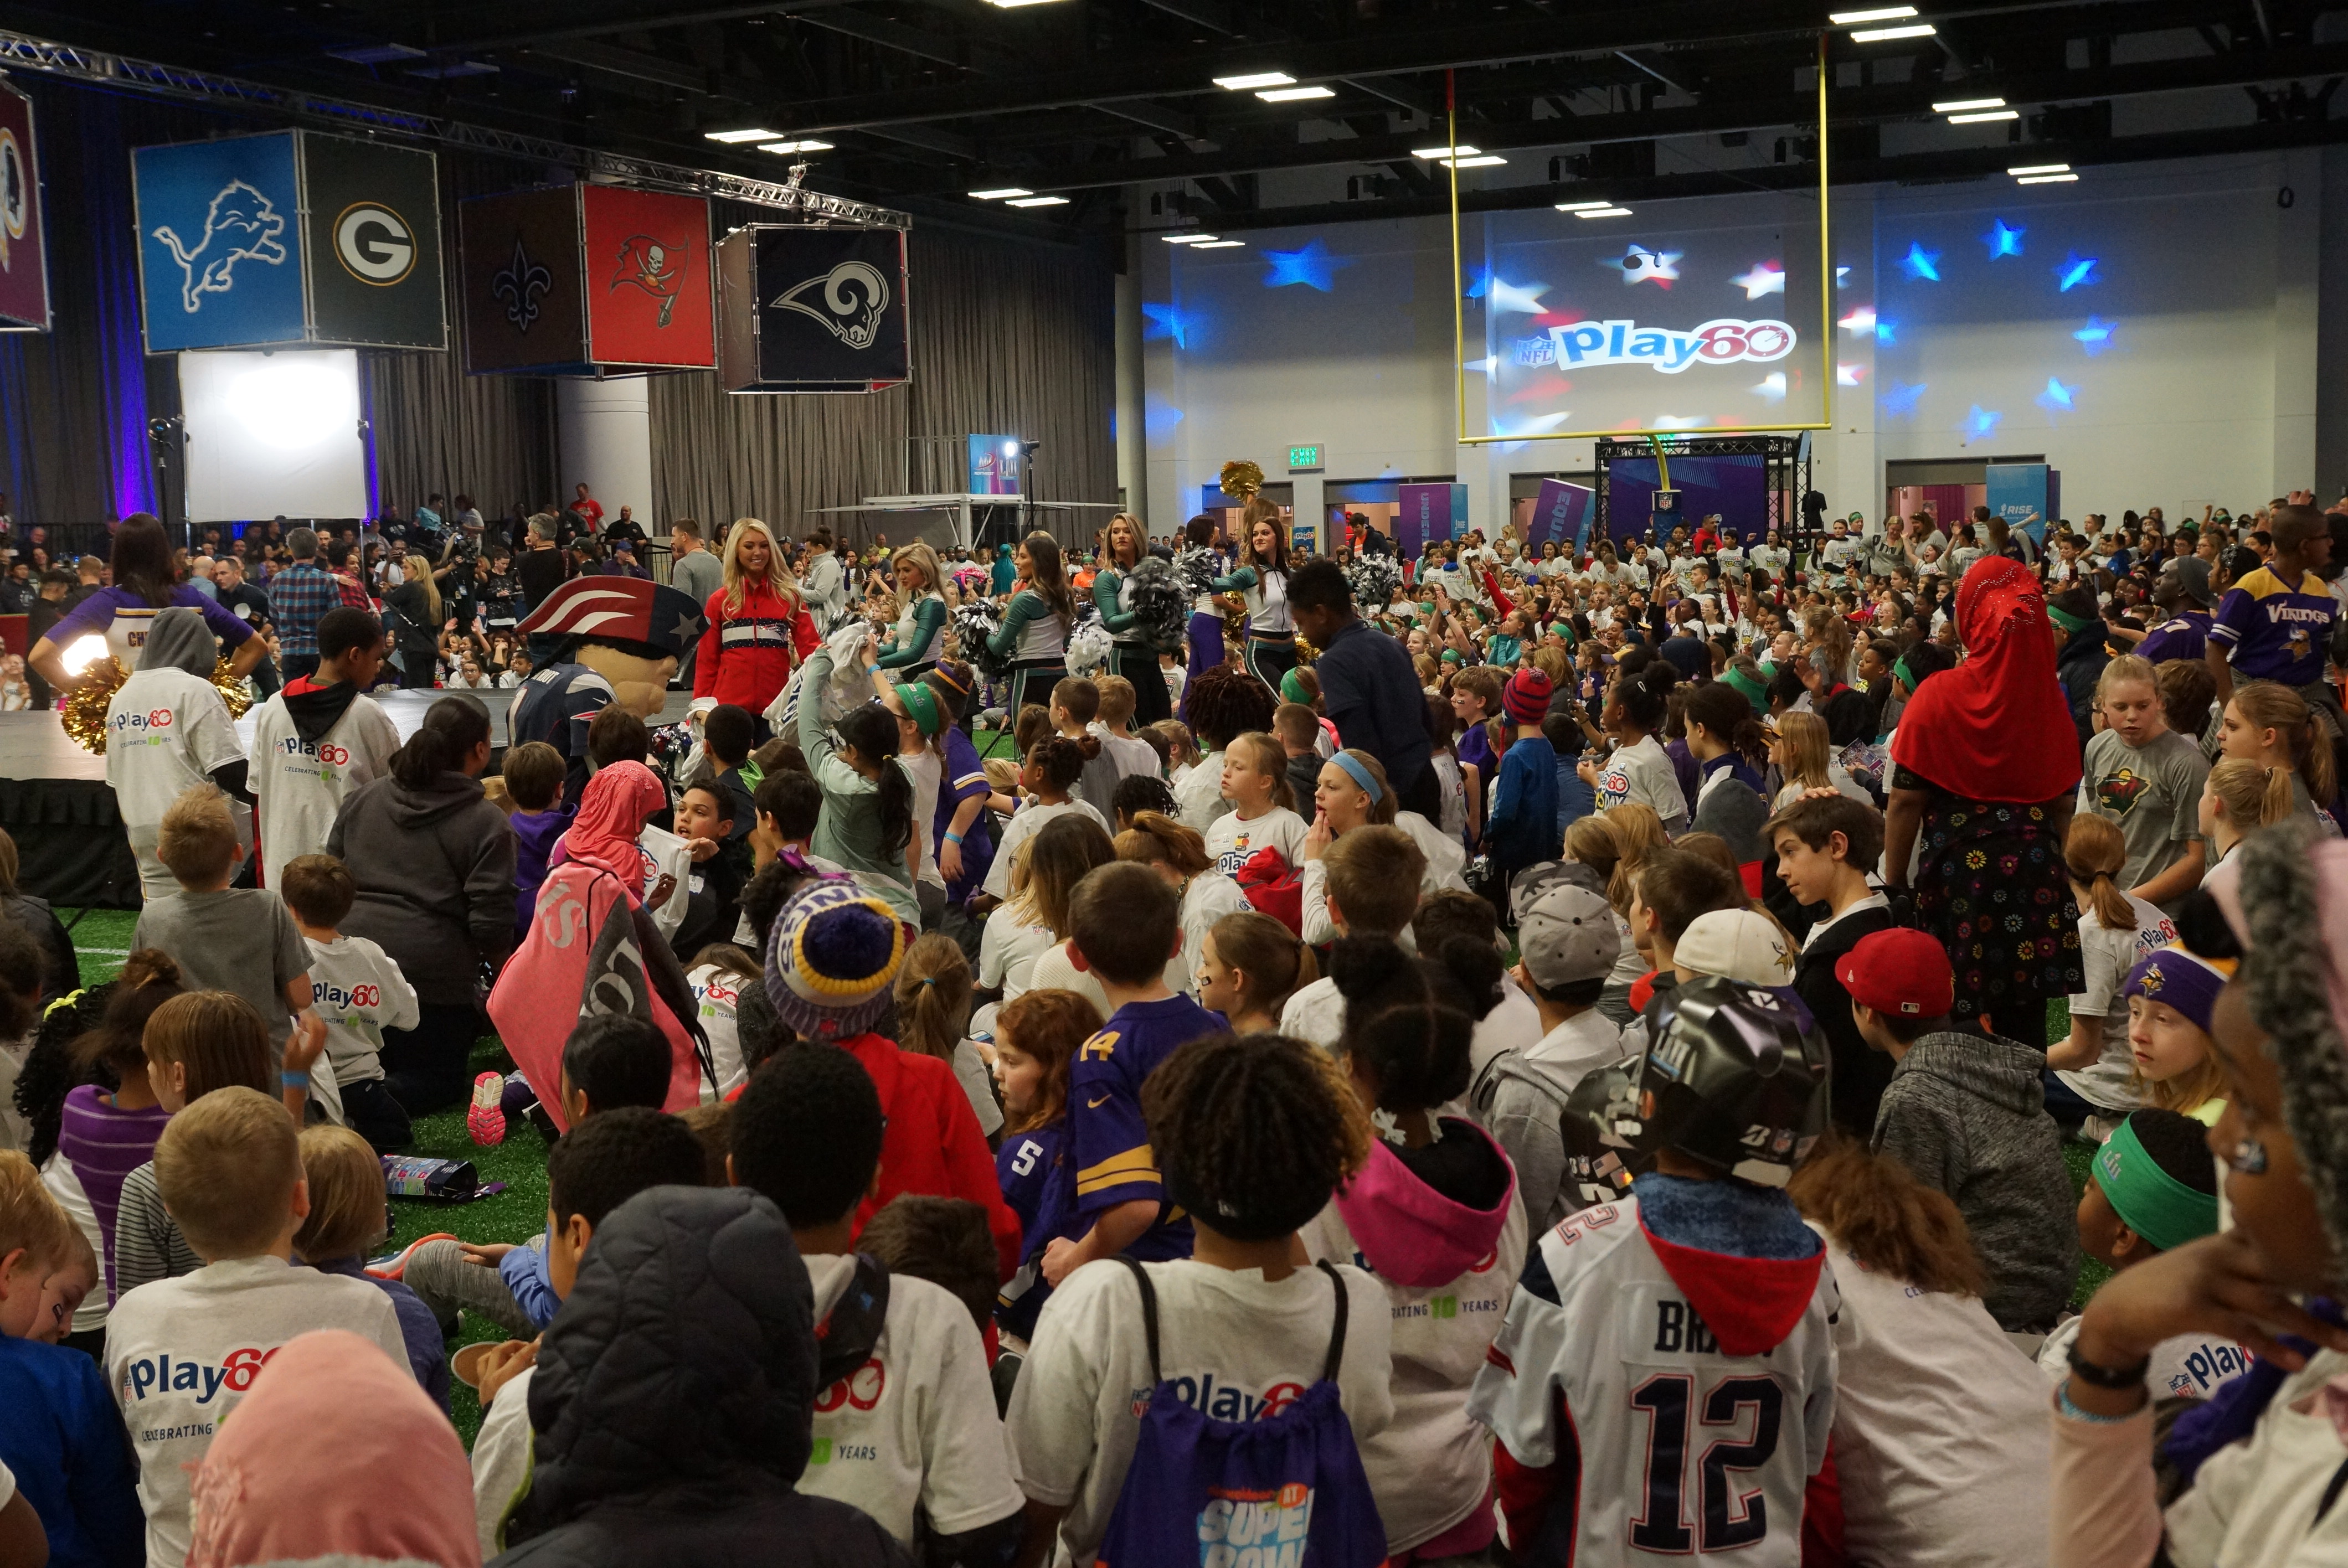
[[[282,1345],[190,1486],[188,1568],[481,1568],[472,1469],[406,1366],[345,1329]]]

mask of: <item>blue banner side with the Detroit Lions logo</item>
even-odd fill
[[[131,150],[150,354],[303,343],[294,131]]]

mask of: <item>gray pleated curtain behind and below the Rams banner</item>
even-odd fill
[[[718,204],[718,232],[756,221]],[[871,394],[733,394],[714,376],[655,376],[653,498],[662,519],[758,516],[850,540],[913,538],[911,516],[822,516],[866,495],[956,491],[965,437],[1043,441],[1038,500],[1118,500],[1115,282],[1104,249],[1035,246],[944,228],[911,232],[913,380]],[[906,437],[927,437],[909,446]],[[911,453],[911,474],[909,474]],[[1068,514],[1085,538],[1108,514]]]

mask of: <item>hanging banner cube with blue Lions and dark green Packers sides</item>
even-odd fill
[[[430,153],[315,131],[131,153],[150,354],[446,347]]]

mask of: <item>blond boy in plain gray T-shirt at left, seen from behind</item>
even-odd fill
[[[197,784],[174,800],[162,815],[155,857],[178,892],[148,899],[131,948],[169,953],[190,991],[228,991],[251,1002],[270,1030],[270,1070],[284,1061],[294,1028],[315,1056],[326,1021],[310,1007],[310,944],[275,892],[228,885],[244,859],[228,796]]]

